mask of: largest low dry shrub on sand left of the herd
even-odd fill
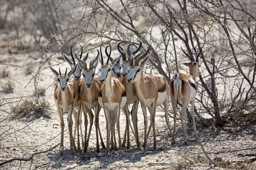
[[[30,98],[23,100],[13,108],[14,118],[25,118],[27,122],[41,117],[49,119],[52,114],[52,105],[44,98]]]

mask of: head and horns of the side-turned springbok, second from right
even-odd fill
[[[146,62],[148,62],[148,59],[150,56],[145,57],[148,52],[151,49],[151,45],[148,46],[147,51],[145,51],[142,55],[137,55],[136,57],[133,57],[131,51],[130,51],[130,46],[132,44],[129,44],[127,46],[127,53],[129,57],[129,65],[130,67],[128,68],[128,77],[127,77],[127,82],[133,83],[137,82],[140,80],[140,78],[143,76],[143,67],[145,66]],[[145,57],[145,59],[143,59]],[[143,59],[142,62],[140,60]]]

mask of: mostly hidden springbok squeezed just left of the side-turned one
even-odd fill
[[[132,52],[132,54],[136,54],[140,48],[142,47],[142,42],[139,40],[140,45],[139,47],[134,50]],[[122,47],[120,47],[120,43],[122,43],[122,41],[120,41],[117,44],[117,50],[119,51],[121,57],[122,57],[122,76],[120,77],[120,82],[122,82],[122,84],[125,86],[125,90],[126,90],[126,95],[127,95],[127,101],[125,104],[125,109],[128,112],[128,116],[130,115],[129,113],[129,109],[128,109],[128,105],[132,104],[132,109],[131,109],[131,120],[133,122],[133,126],[134,126],[134,137],[136,140],[136,144],[137,147],[140,147],[140,140],[139,140],[139,134],[138,134],[138,118],[137,118],[137,111],[138,111],[138,105],[139,105],[139,100],[136,94],[136,90],[135,90],[135,86],[134,83],[130,84],[126,81],[127,78],[127,72],[128,72],[128,68],[129,68],[129,60],[126,58],[126,54],[123,51]],[[138,54],[138,56],[140,56],[143,53],[144,49],[140,52],[140,54]],[[132,128],[131,128],[132,130]],[[125,127],[125,136],[127,133],[127,148],[130,147],[130,135],[129,135],[129,127]],[[122,146],[125,146],[125,139],[123,140]]]

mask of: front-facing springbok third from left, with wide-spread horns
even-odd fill
[[[95,114],[94,125],[96,128],[96,152],[99,152],[99,136],[100,136],[102,148],[103,149],[106,148],[102,139],[100,129],[99,129],[99,111],[101,110],[101,107],[98,102],[98,96],[99,96],[99,89],[101,87],[101,84],[99,83],[99,75],[95,74],[95,69],[98,65],[98,58],[99,58],[99,50],[97,51],[98,51],[98,54],[92,61],[90,61],[89,68],[87,68],[86,59],[81,60],[77,57],[77,54],[75,54],[76,59],[79,61],[80,67],[83,69],[82,70],[83,79],[82,79],[82,82],[80,83],[80,98],[82,101],[82,108],[84,112],[84,126],[85,126],[84,142],[86,141],[86,144],[84,144],[84,152],[87,152],[87,147],[90,139],[90,132],[93,125],[93,113],[91,109],[94,109],[94,114]],[[88,138],[87,138],[87,125],[88,125],[87,113],[90,118]],[[99,130],[99,135],[98,135],[98,130]]]

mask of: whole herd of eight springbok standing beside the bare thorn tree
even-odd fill
[[[88,53],[82,59],[83,49],[81,46],[81,55],[78,56],[75,53],[75,58],[73,57],[72,47],[70,49],[72,61],[64,55],[64,59],[69,63],[71,70],[67,73],[67,68],[64,74],[55,71],[51,66],[52,72],[58,77],[58,82],[54,89],[54,99],[57,107],[58,115],[61,120],[61,155],[63,155],[63,139],[64,139],[64,119],[63,111],[68,112],[68,130],[70,135],[70,152],[74,154],[74,151],[80,150],[80,141],[79,141],[79,130],[81,133],[81,144],[84,149],[84,152],[87,152],[87,147],[89,144],[90,133],[93,125],[96,128],[96,152],[99,152],[99,137],[103,149],[106,149],[106,153],[109,151],[110,143],[111,149],[117,150],[116,146],[116,133],[115,125],[118,133],[118,142],[119,150],[122,150],[122,147],[125,147],[126,136],[127,136],[127,146],[130,148],[130,127],[131,131],[134,134],[134,138],[137,143],[137,147],[140,147],[140,140],[138,134],[138,125],[137,125],[137,110],[138,104],[140,101],[141,108],[144,114],[144,150],[147,147],[147,139],[150,133],[151,127],[153,128],[154,135],[154,149],[157,148],[156,144],[156,134],[155,134],[155,113],[156,107],[163,103],[165,111],[166,124],[169,128],[169,131],[172,136],[172,144],[176,144],[175,141],[175,125],[176,125],[176,105],[177,102],[181,102],[183,107],[181,110],[181,122],[182,129],[184,133],[184,142],[187,144],[186,137],[186,108],[189,102],[192,104],[192,108],[195,105],[195,94],[197,92],[195,77],[198,76],[198,56],[196,60],[193,57],[190,57],[183,51],[187,57],[191,60],[189,63],[183,63],[189,67],[189,74],[176,73],[168,85],[168,82],[163,77],[163,75],[158,72],[154,72],[151,75],[144,77],[143,67],[150,57],[149,52],[151,51],[151,45],[145,50],[142,48],[142,42],[138,40],[139,47],[134,43],[130,43],[127,46],[127,53],[125,53],[120,47],[122,42],[117,44],[117,49],[120,53],[120,56],[113,59],[111,57],[111,45],[108,43],[108,46],[105,48],[105,54],[108,57],[107,62],[103,61],[102,55],[102,45],[100,46],[100,51],[97,50],[96,57],[90,61],[89,68],[87,67]],[[133,45],[136,50],[131,51],[131,45]],[[108,48],[110,51],[108,52]],[[99,57],[100,56],[100,57]],[[128,56],[128,57],[127,57]],[[122,64],[120,63],[120,58],[122,57]],[[100,62],[100,75],[95,74],[96,67]],[[121,73],[122,68],[122,73]],[[73,79],[70,77],[73,75]],[[83,78],[81,79],[81,75]],[[70,80],[70,81],[69,81]],[[174,110],[174,128],[173,132],[169,125],[168,119],[168,110],[169,110],[169,96],[172,101],[172,108]],[[128,105],[132,104],[132,109],[129,111]],[[146,107],[150,113],[150,125],[148,127],[147,121],[147,112]],[[99,112],[103,108],[106,119],[106,130],[107,130],[107,142],[106,146],[102,140],[101,131],[99,128]],[[94,110],[94,114],[92,112]],[[125,114],[126,117],[126,126],[125,126],[125,135],[124,139],[121,142],[120,137],[120,110]],[[84,139],[82,135],[81,128],[81,112],[84,113],[84,125],[85,133]],[[132,124],[134,130],[130,123],[129,115],[131,113]],[[75,132],[73,135],[73,120],[72,114],[75,118]],[[90,119],[90,127],[87,135],[87,125],[88,118]],[[195,114],[194,109],[192,109],[192,118],[194,130],[195,128]],[[184,119],[184,121],[183,121]],[[184,125],[185,124],[185,125]],[[77,131],[77,147],[75,144],[75,136]],[[110,138],[111,136],[111,138]],[[111,140],[110,140],[111,139]],[[110,142],[110,143],[109,143]]]

